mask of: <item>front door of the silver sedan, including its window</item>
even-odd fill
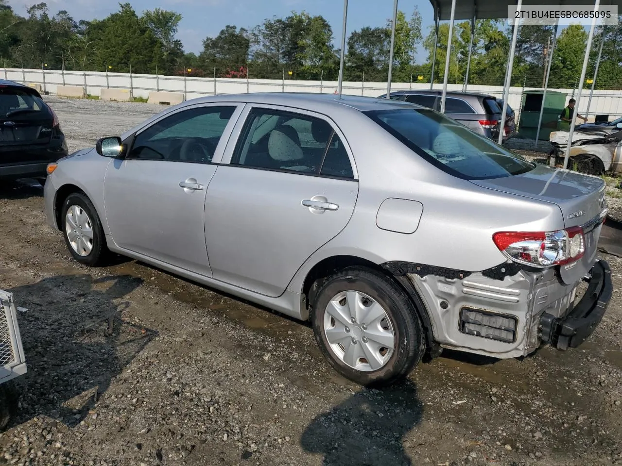
[[[185,107],[140,130],[108,165],[106,220],[119,247],[211,276],[205,194],[243,106]]]

